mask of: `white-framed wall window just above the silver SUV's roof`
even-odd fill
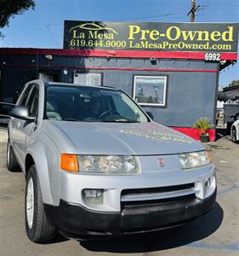
[[[73,83],[80,85],[101,85],[101,73],[74,73]]]

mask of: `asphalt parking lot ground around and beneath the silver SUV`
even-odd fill
[[[238,255],[239,144],[223,137],[206,144],[218,178],[217,203],[200,219],[171,230],[103,241],[70,241],[58,236],[47,244],[25,233],[25,177],[6,168],[6,131],[0,131],[0,255]]]

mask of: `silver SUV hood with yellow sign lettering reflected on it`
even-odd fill
[[[61,152],[74,154],[178,154],[203,150],[201,143],[163,125],[44,120],[42,129]]]

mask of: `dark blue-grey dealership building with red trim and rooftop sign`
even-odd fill
[[[199,139],[193,125],[202,117],[216,123],[219,71],[237,60],[236,27],[65,21],[65,49],[0,48],[0,102],[15,102],[33,79],[112,86],[156,122]],[[2,114],[9,108],[0,104]],[[213,141],[215,130],[209,134]]]

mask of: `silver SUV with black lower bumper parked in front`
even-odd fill
[[[208,212],[216,175],[201,143],[156,124],[122,90],[27,83],[7,164],[26,175],[26,234],[48,241],[185,224]]]

